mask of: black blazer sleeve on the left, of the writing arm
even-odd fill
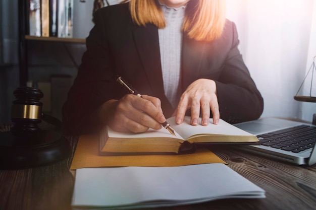
[[[95,13],[95,25],[86,39],[87,49],[63,106],[65,133],[83,134],[93,130],[98,125],[89,120],[90,115],[102,103],[116,95],[104,17],[99,11]]]

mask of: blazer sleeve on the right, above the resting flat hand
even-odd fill
[[[229,123],[238,123],[259,118],[264,109],[264,100],[238,50],[236,26],[232,22],[229,26],[232,45],[216,85],[220,117]]]

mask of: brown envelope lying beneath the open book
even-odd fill
[[[70,169],[113,166],[184,166],[202,163],[225,163],[207,149],[187,155],[99,156],[98,136],[82,135],[76,147]]]

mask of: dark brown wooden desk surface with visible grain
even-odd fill
[[[74,152],[78,137],[67,138]],[[155,209],[315,209],[316,165],[289,165],[223,147],[213,151],[233,170],[265,189],[267,198],[224,199]],[[48,166],[0,171],[0,209],[71,209],[75,182],[69,172],[72,156]]]

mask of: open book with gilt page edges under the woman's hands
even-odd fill
[[[200,119],[201,120],[201,119]],[[258,144],[251,133],[220,119],[217,125],[210,119],[208,126],[190,124],[186,116],[182,124],[176,124],[175,117],[167,119],[176,136],[167,129],[149,129],[143,133],[116,132],[110,127],[99,136],[100,155],[148,154],[148,153],[193,153],[196,144]]]

